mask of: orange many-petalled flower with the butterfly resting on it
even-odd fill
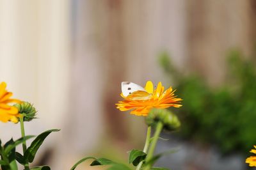
[[[118,102],[117,109],[120,111],[131,110],[131,114],[136,116],[147,116],[152,108],[167,108],[167,107],[180,107],[181,98],[176,98],[172,87],[164,91],[162,83],[159,82],[157,88],[154,90],[153,83],[148,81],[145,86],[145,91],[134,91],[127,97],[121,93],[123,101]]]

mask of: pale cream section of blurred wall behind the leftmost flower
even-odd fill
[[[0,81],[38,110],[38,119],[25,124],[26,134],[62,128],[67,120],[69,61],[69,1],[0,0]],[[0,123],[0,136],[17,139],[19,124]]]

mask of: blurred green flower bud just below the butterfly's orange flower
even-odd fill
[[[161,121],[163,123],[163,128],[168,131],[180,127],[179,118],[167,109],[151,109],[146,118],[147,125],[154,127],[158,121]]]

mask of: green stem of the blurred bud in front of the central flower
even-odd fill
[[[147,157],[146,157],[146,163],[149,162],[153,157],[153,154],[154,154],[154,151],[155,151],[155,148],[156,148],[156,143],[158,141],[158,138],[159,138],[159,135],[160,135],[162,129],[163,129],[163,123],[161,121],[159,121],[156,125],[156,132],[155,132],[155,134],[152,138],[152,142],[151,142],[150,148],[148,150],[148,154],[147,154]],[[152,164],[148,164],[145,167],[145,170],[150,170],[151,167],[152,167]]]

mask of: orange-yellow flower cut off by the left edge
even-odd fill
[[[8,105],[10,103],[19,103],[20,100],[11,99],[12,92],[6,90],[6,83],[0,84],[0,121],[7,122],[12,121],[17,123],[19,120],[19,111],[16,107]]]

